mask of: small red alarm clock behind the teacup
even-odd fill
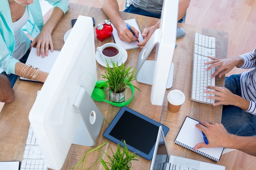
[[[111,26],[110,20],[104,20],[100,24],[97,25],[96,29],[97,38],[100,41],[110,37],[113,32],[113,27]]]

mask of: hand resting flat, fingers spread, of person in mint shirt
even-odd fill
[[[47,56],[49,52],[49,48],[53,52],[54,48],[52,43],[51,32],[45,29],[42,29],[30,46],[31,47],[36,46],[36,54],[38,56],[40,56],[40,52],[42,57]]]

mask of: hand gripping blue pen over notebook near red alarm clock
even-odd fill
[[[139,31],[135,29],[134,27],[130,26],[133,33],[136,35],[136,37],[139,37]],[[138,38],[136,38],[132,32],[128,29],[126,26],[126,22],[122,22],[122,24],[119,24],[116,26],[118,36],[120,40],[131,43],[131,42],[138,42]]]

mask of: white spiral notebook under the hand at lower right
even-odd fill
[[[196,124],[198,124],[197,120],[187,116],[175,139],[175,144],[218,162],[224,148],[200,148],[193,150],[196,144],[204,142],[202,132],[195,127]]]

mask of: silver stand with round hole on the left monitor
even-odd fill
[[[80,87],[73,105],[80,113],[81,121],[72,144],[94,146],[104,121],[103,115],[83,87]]]

